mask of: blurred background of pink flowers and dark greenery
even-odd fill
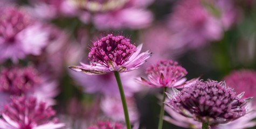
[[[1,70],[31,66],[53,81],[53,107],[68,128],[86,128],[98,119],[123,121],[114,76],[88,76],[68,66],[88,63],[88,48],[102,36],[126,35],[154,53],[141,68],[121,77],[132,123],[155,129],[162,89],[135,78],[165,59],[179,62],[188,80],[201,76],[222,81],[233,70],[255,72],[255,7],[253,0],[1,0]],[[10,32],[13,39],[4,31],[6,17],[18,19]],[[256,74],[252,76],[254,90]],[[182,127],[164,121],[163,128]]]

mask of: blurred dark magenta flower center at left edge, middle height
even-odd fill
[[[32,67],[4,68],[0,72],[0,91],[12,95],[22,95],[33,89],[41,82],[36,69]]]

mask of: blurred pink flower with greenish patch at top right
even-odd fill
[[[233,9],[231,1],[178,1],[170,17],[170,28],[189,47],[197,48],[222,38],[223,31],[234,22]]]

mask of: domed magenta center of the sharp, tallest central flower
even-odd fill
[[[122,66],[136,51],[136,46],[130,44],[130,39],[122,35],[113,36],[113,34],[108,34],[93,43],[88,57],[92,61],[92,66],[100,63],[105,67],[109,67],[108,61],[113,61]]]

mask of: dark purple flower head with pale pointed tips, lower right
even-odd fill
[[[236,95],[225,82],[197,81],[181,91],[172,88],[166,103],[174,111],[209,125],[225,124],[247,114],[251,98]]]

